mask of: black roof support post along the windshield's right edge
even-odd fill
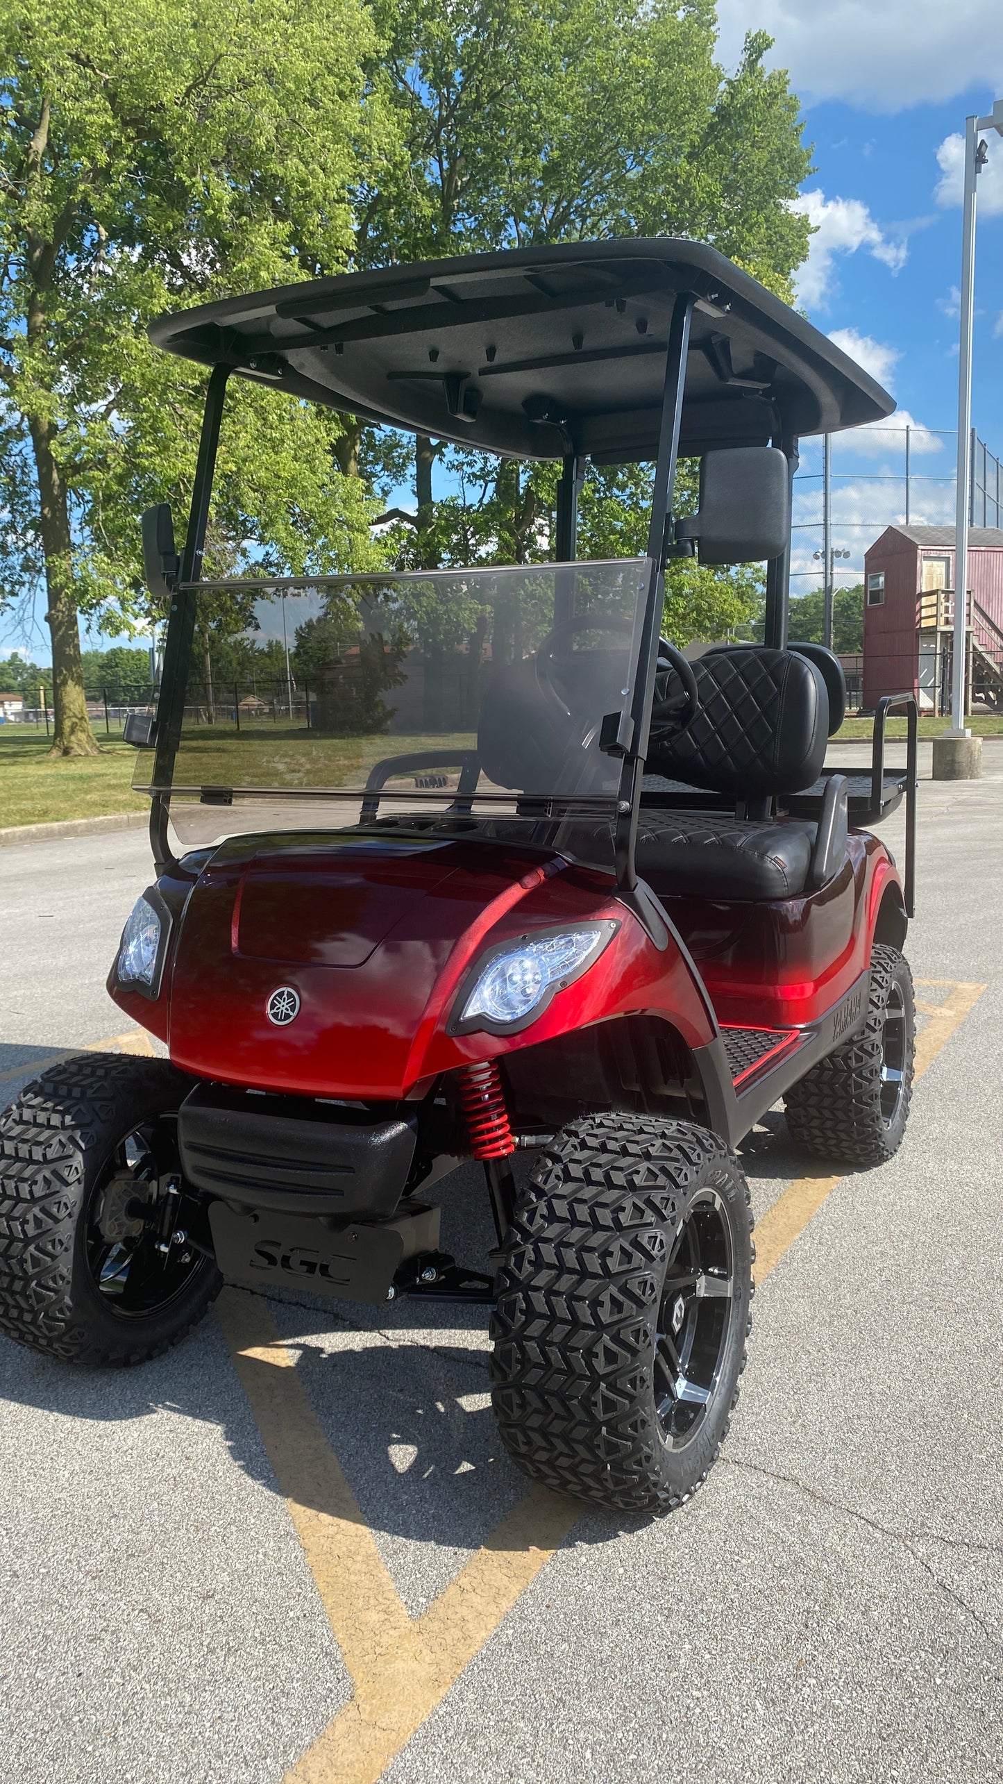
[[[619,776],[621,812],[616,821],[614,855],[616,881],[621,896],[648,906],[650,894],[637,883],[635,844],[637,815],[641,810],[641,778],[644,774],[644,756],[648,753],[648,730],[651,724],[651,699],[655,694],[655,665],[659,660],[659,639],[662,635],[662,608],[666,603],[666,523],[671,514],[676,489],[676,462],[680,450],[682,401],[685,389],[685,366],[689,353],[689,325],[696,298],[684,291],[673,305],[669,326],[669,350],[666,355],[666,384],[662,389],[662,421],[659,428],[659,457],[655,460],[655,483],[651,489],[651,521],[648,526],[648,557],[651,558],[651,582],[641,619],[641,640],[635,657],[637,671],[630,701],[630,744],[623,756]],[[655,906],[644,910],[646,919],[660,917]],[[666,931],[667,940],[667,931]],[[664,946],[664,944],[662,944]]]

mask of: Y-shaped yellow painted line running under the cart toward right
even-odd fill
[[[949,985],[949,995],[930,1008],[919,1033],[917,1078],[985,990],[953,979],[926,983]],[[842,1177],[844,1172],[798,1177],[758,1222],[757,1283]],[[428,1611],[410,1618],[268,1304],[228,1288],[218,1309],[355,1688],[284,1784],[377,1784],[568,1538],[584,1507],[532,1488]]]

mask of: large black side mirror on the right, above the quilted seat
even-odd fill
[[[700,460],[700,510],[676,523],[701,564],[755,564],[791,539],[791,467],[776,446],[728,446]]]

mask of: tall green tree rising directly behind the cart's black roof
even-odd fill
[[[791,296],[808,246],[791,200],[810,152],[787,77],[762,66],[764,32],[725,77],[712,0],[377,0],[377,20],[389,50],[369,84],[400,132],[396,153],[362,169],[357,264],[694,235]],[[455,494],[432,503],[439,457]],[[485,469],[482,455],[427,439],[414,464],[416,512],[396,510],[405,562],[521,562],[551,548],[551,466]],[[626,549],[644,496],[644,473],[591,471],[582,549],[598,535]],[[735,587],[750,578],[716,582],[712,632],[735,621]],[[700,585],[694,612],[707,610],[707,574],[680,566],[673,583]]]

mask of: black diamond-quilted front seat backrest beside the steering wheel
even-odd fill
[[[684,731],[651,731],[648,769],[734,799],[801,792],[817,781],[828,740],[821,671],[796,651],[758,644],[707,651],[694,665],[700,712]],[[657,699],[678,689],[659,674]]]

